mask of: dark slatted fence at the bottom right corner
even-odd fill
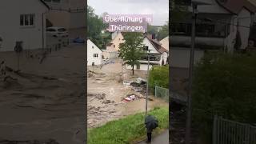
[[[256,127],[215,116],[213,144],[256,144]]]

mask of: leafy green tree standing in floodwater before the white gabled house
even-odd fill
[[[123,59],[125,64],[132,66],[134,75],[134,66],[138,65],[138,60],[145,54],[143,50],[143,34],[142,33],[124,33],[123,40],[119,46],[119,57]]]

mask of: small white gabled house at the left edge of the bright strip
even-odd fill
[[[87,66],[96,66],[102,64],[102,50],[98,48],[91,42],[90,39],[87,39]]]

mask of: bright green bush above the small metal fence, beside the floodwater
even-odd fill
[[[169,66],[153,66],[150,70],[149,86],[154,90],[154,86],[169,89]]]

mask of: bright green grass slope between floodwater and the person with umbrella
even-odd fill
[[[158,118],[158,128],[154,133],[169,126],[168,107],[155,108],[149,114]],[[106,125],[88,130],[88,144],[128,144],[146,138],[144,125],[145,113],[134,114],[126,118],[107,122]]]

